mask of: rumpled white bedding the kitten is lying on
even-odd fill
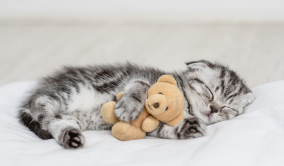
[[[122,142],[85,131],[82,149],[62,149],[19,124],[17,105],[35,82],[0,88],[0,165],[284,165],[284,81],[253,89],[245,114],[208,126],[202,138]]]

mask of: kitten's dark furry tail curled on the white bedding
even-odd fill
[[[39,138],[44,140],[51,139],[51,133],[42,129],[39,122],[33,119],[33,116],[26,111],[26,108],[21,108],[19,110],[19,120],[22,124],[24,124],[30,131],[33,131]]]

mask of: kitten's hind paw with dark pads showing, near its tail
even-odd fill
[[[62,142],[63,147],[67,149],[77,149],[83,147],[84,144],[85,138],[82,136],[80,131],[77,129],[66,130]]]

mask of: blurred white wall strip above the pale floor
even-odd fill
[[[284,21],[283,0],[1,0],[0,18]]]

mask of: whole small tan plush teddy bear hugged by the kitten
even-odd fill
[[[123,93],[116,95],[117,100]],[[116,102],[106,102],[100,110],[105,122],[114,124],[112,135],[118,140],[145,138],[146,132],[159,127],[160,122],[174,126],[184,119],[184,95],[172,75],[162,75],[147,92],[145,107],[140,116],[130,122],[120,121],[114,113]]]

